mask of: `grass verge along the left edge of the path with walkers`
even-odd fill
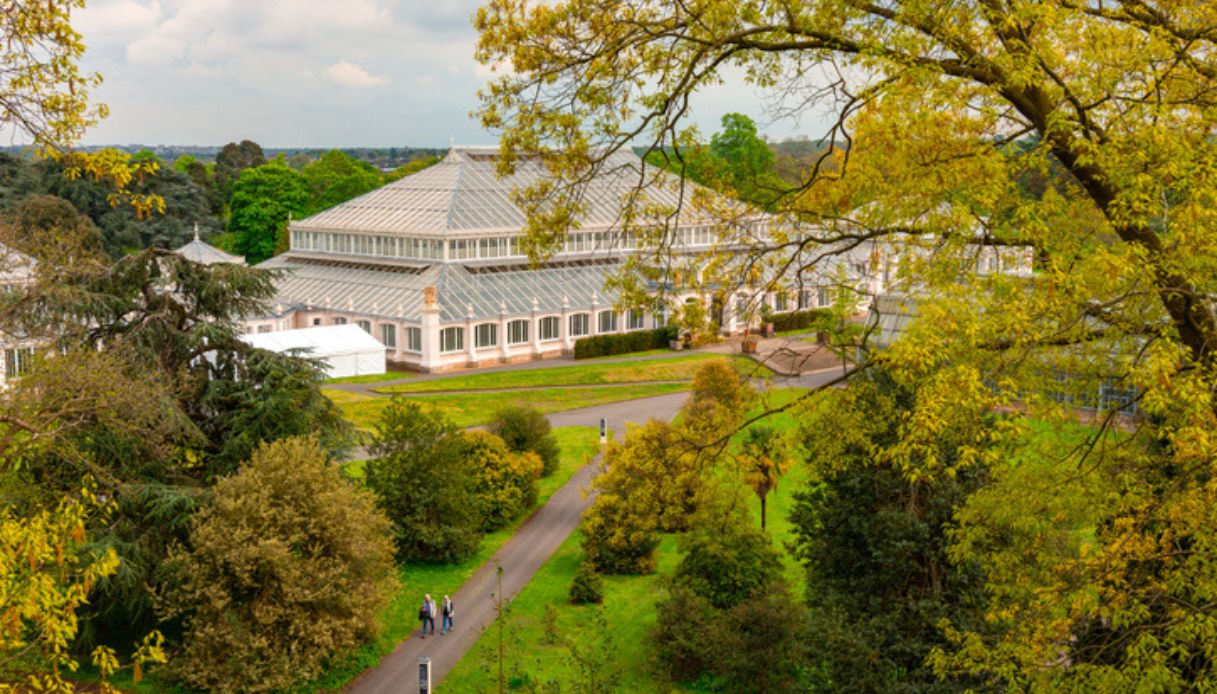
[[[570,426],[555,429],[561,448],[557,470],[540,481],[537,508],[549,500],[554,492],[562,487],[600,450],[600,431],[594,426]],[[477,554],[460,564],[416,564],[403,566],[398,572],[402,583],[382,616],[385,631],[376,640],[364,645],[352,655],[335,665],[321,678],[296,688],[298,692],[325,692],[340,689],[354,679],[364,670],[375,666],[397,644],[408,638],[419,627],[419,604],[424,593],[431,593],[437,599],[444,594],[456,593],[490,556],[494,555],[515,535],[516,528],[528,517],[526,514],[511,527],[492,532],[482,538]]]

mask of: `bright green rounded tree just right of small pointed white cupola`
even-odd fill
[[[246,169],[232,184],[228,230],[236,235],[237,252],[249,264],[275,254],[275,244],[291,216],[309,211],[308,181],[276,162]]]

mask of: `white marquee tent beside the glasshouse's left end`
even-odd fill
[[[298,349],[325,359],[331,379],[385,373],[385,345],[358,325],[323,325],[279,332],[242,335],[249,345],[271,352]]]

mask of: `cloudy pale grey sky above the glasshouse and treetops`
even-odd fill
[[[473,61],[477,0],[89,0],[74,17],[102,74],[110,118],[85,142],[264,146],[490,144],[469,117],[487,72]],[[729,111],[770,136],[740,80],[696,102],[717,130]]]

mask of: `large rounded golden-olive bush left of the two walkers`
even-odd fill
[[[170,556],[174,672],[191,687],[270,692],[315,677],[378,629],[396,587],[389,522],[312,438],[263,446]]]

